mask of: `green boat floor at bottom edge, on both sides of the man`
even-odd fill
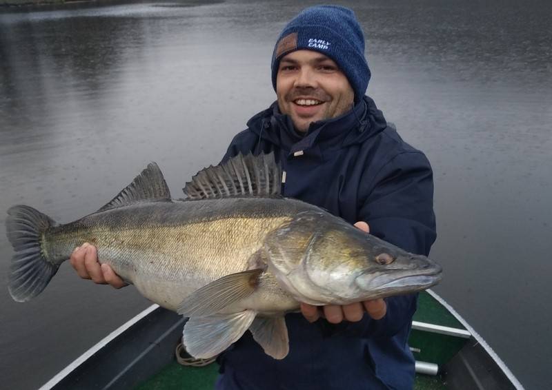
[[[219,365],[184,367],[172,362],[135,390],[208,390],[213,389],[219,375]],[[445,390],[440,376],[416,375],[414,390]]]

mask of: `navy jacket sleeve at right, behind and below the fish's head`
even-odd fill
[[[364,187],[363,187],[364,186]],[[370,234],[408,252],[428,255],[435,242],[433,172],[422,152],[402,152],[388,161],[370,182],[363,182],[358,220],[370,226]],[[351,336],[394,336],[408,326],[416,310],[417,294],[384,298],[387,313],[381,320],[367,314],[348,322]]]

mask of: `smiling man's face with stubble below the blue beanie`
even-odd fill
[[[300,132],[311,122],[331,119],[353,107],[355,92],[337,64],[324,54],[297,50],[282,57],[276,78],[282,114]]]

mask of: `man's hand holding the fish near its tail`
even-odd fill
[[[113,269],[107,265],[98,263],[98,253],[94,245],[84,243],[75,248],[71,254],[70,263],[83,279],[92,279],[99,285],[111,285],[116,289],[125,287],[128,283],[119,278]]]

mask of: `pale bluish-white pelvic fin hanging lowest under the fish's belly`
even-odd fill
[[[184,325],[182,343],[194,358],[213,358],[242,337],[255,315],[255,311],[245,310],[190,318]]]

